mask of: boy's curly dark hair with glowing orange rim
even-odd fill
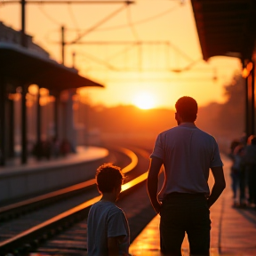
[[[96,184],[101,193],[112,192],[123,184],[124,174],[121,168],[111,163],[102,164],[96,172]]]

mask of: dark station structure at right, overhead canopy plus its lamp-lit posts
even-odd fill
[[[255,0],[191,0],[203,59],[215,56],[241,60],[244,88],[244,131],[255,134]]]

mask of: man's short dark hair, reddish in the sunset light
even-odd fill
[[[197,102],[195,99],[184,96],[177,100],[175,104],[177,113],[185,122],[195,122],[197,115]]]

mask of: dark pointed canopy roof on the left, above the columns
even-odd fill
[[[75,68],[67,68],[18,45],[1,43],[0,60],[0,76],[8,81],[37,84],[57,92],[84,86],[104,87],[78,75]]]

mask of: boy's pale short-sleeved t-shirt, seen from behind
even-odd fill
[[[93,204],[87,219],[88,256],[108,255],[108,237],[122,236],[118,255],[129,255],[130,230],[124,211],[109,201]]]

